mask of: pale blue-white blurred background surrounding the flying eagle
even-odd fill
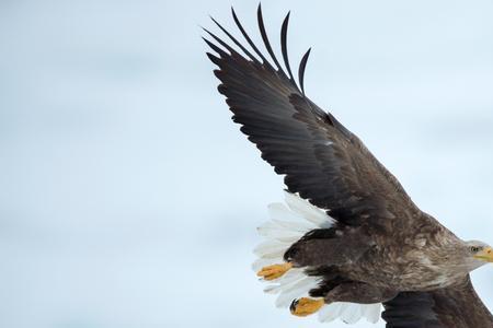
[[[239,132],[199,26],[256,1],[0,2],[0,327],[342,327],[250,269],[283,181]],[[308,95],[415,202],[493,243],[493,2],[263,1]],[[236,33],[238,35],[238,33]],[[493,308],[493,267],[473,282]],[[380,320],[371,326],[383,327]]]

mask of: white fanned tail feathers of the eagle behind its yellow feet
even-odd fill
[[[286,204],[268,206],[271,221],[259,227],[259,234],[266,241],[255,247],[259,259],[253,263],[256,272],[265,266],[282,263],[283,255],[296,241],[314,229],[326,229],[334,224],[334,219],[325,211],[312,206],[297,195],[285,192]],[[320,283],[320,278],[305,274],[302,269],[290,269],[280,278],[270,281],[264,291],[278,294],[277,307],[289,307],[299,297],[308,297],[308,292]],[[355,324],[365,317],[370,323],[380,318],[381,304],[332,303],[319,311],[322,323],[340,318],[346,324]]]

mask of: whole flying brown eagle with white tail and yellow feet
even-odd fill
[[[322,321],[365,317],[387,327],[486,328],[493,316],[469,272],[493,261],[493,249],[465,242],[421,211],[398,179],[335,117],[305,94],[302,57],[298,82],[287,51],[289,13],[280,30],[282,63],[265,32],[270,60],[252,42],[234,10],[248,45],[217,21],[228,44],[205,30],[216,52],[218,90],[233,121],[287,186],[286,203],[270,206],[272,221],[259,229],[257,276],[277,293],[277,306]],[[248,49],[248,47],[250,49]],[[381,304],[385,311],[381,312]]]

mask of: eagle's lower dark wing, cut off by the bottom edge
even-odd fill
[[[468,277],[460,285],[433,292],[404,292],[383,303],[387,328],[493,327],[493,316]]]

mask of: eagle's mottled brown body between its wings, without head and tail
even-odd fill
[[[459,238],[439,224],[403,230],[393,226],[401,225],[399,222],[395,218],[379,231],[335,226],[312,232],[294,244],[285,257],[300,266],[331,263],[353,281],[394,291],[435,290],[462,282],[469,268],[462,262],[466,254],[455,246],[461,244]],[[405,235],[389,237],[388,232],[399,231],[405,231]]]

